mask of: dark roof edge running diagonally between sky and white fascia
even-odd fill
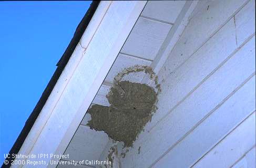
[[[94,15],[94,13],[95,13],[98,5],[99,5],[99,2],[100,1],[93,1],[90,4],[89,9],[87,10],[85,16],[83,17],[83,19],[81,20],[81,22],[77,26],[75,34],[74,34],[73,38],[71,39],[68,47],[66,48],[63,56],[58,61],[57,69],[55,70],[54,75],[50,79],[47,87],[45,88],[42,96],[40,97],[39,101],[37,102],[34,110],[30,114],[30,116],[28,117],[21,133],[19,134],[17,140],[15,141],[12,149],[9,151],[9,154],[11,154],[11,155],[12,154],[17,154],[19,152],[19,149],[21,149],[23,142],[25,141],[29,131],[32,129],[39,113],[43,109],[48,97],[50,96],[50,93],[52,92],[52,90],[53,90],[54,86],[56,85],[60,75],[62,74],[62,71],[64,70],[65,66],[67,65],[67,62],[68,62],[69,58],[73,54],[77,44],[79,43],[79,40],[83,36],[86,27],[88,26],[91,18],[93,17],[93,15]],[[9,164],[4,164],[3,163],[2,168],[10,167],[11,166],[11,160],[13,160],[13,158],[12,157],[6,158],[6,160],[8,161]]]

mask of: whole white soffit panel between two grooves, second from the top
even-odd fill
[[[139,17],[121,53],[153,60],[171,25]]]

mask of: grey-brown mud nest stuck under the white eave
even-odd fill
[[[94,105],[88,113],[90,129],[105,131],[109,137],[132,146],[145,124],[151,120],[157,93],[146,84],[119,81],[107,95],[110,107]]]

